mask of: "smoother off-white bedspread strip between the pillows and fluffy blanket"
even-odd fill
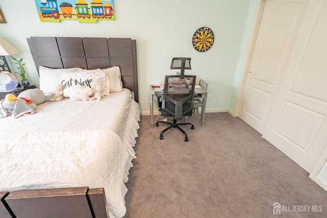
[[[131,104],[131,92],[113,92],[101,101],[44,102],[35,114],[0,118],[0,132],[61,132],[111,130],[121,136]]]

